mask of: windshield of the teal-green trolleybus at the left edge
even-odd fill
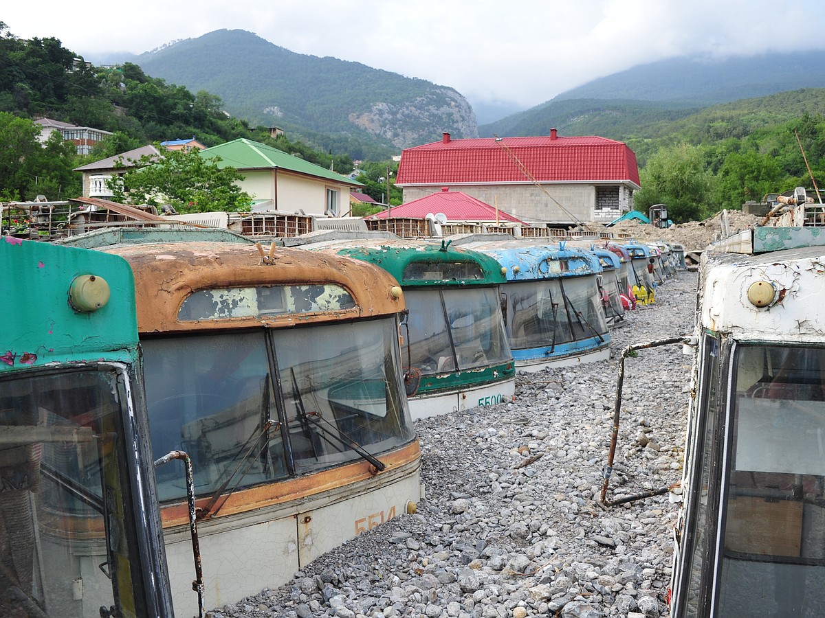
[[[105,364],[0,377],[0,616],[148,615],[127,384]]]

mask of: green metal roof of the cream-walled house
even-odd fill
[[[337,183],[352,187],[364,186],[360,182],[347,178],[347,176],[342,176],[309,161],[304,161],[300,157],[293,157],[289,153],[267,146],[265,143],[254,142],[246,138],[233,139],[231,142],[205,148],[205,150],[200,151],[200,156],[205,158],[220,157],[219,167],[232,166],[238,171],[281,169],[334,180]]]

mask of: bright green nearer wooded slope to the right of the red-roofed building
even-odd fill
[[[676,221],[741,208],[768,193],[825,185],[825,89],[716,105],[640,126],[636,208],[667,204]]]

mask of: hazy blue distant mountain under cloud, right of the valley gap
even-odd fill
[[[567,135],[621,139],[637,133],[640,124],[686,118],[711,105],[823,87],[825,51],[661,60],[600,77],[483,124],[479,135],[545,135],[554,127]]]

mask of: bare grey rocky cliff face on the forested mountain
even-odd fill
[[[368,111],[350,114],[349,120],[398,148],[435,141],[443,131],[460,138],[479,137],[473,108],[452,88],[433,88],[403,104],[377,101]]]

